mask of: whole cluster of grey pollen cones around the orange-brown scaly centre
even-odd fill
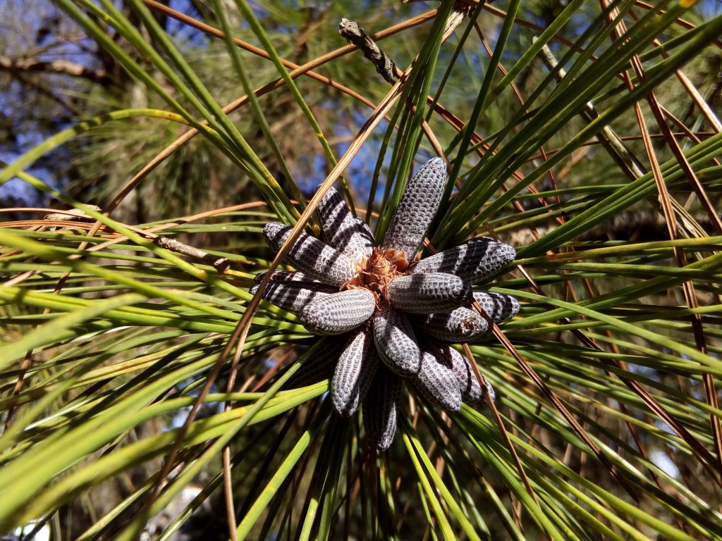
[[[331,400],[339,415],[361,406],[367,437],[378,449],[393,440],[404,380],[448,413],[462,401],[484,403],[474,370],[451,343],[488,330],[472,302],[495,322],[519,309],[511,296],[471,289],[513,261],[509,245],[471,239],[416,261],[445,182],[445,162],[426,162],[406,186],[380,246],[331,188],[316,211],[321,239],[301,233],[285,259],[298,272],[275,271],[263,292],[310,332],[336,337],[310,366],[317,381],[333,374]],[[276,251],[290,232],[278,223],[264,228]],[[487,390],[493,397],[488,384]]]

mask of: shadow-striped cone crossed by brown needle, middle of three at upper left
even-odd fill
[[[291,227],[277,222],[266,224],[264,227],[266,242],[278,251],[291,230]],[[354,265],[346,255],[303,232],[294,242],[286,260],[314,280],[331,286],[340,287],[355,274]]]

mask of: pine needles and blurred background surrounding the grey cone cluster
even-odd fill
[[[722,538],[722,15],[693,4],[7,1],[0,534]],[[484,289],[522,309],[470,345],[495,407],[412,394],[378,453],[327,381],[282,389],[326,345],[248,287],[318,183],[380,234],[435,154],[430,246],[517,247]]]

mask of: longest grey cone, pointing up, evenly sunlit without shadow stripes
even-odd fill
[[[446,183],[446,164],[441,158],[433,158],[421,166],[406,185],[404,195],[388,224],[383,248],[406,252],[413,261],[431,221],[438,211]]]

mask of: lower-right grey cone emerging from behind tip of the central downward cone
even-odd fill
[[[424,348],[421,353],[421,368],[411,378],[414,387],[427,400],[448,413],[461,410],[461,387],[453,371],[445,365],[440,351]]]

